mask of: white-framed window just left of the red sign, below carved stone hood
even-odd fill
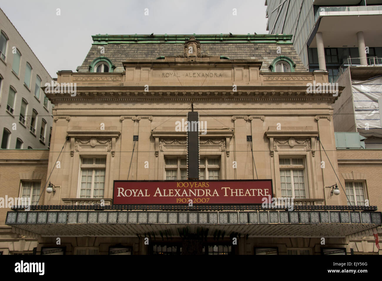
[[[79,198],[104,198],[106,158],[81,159]]]

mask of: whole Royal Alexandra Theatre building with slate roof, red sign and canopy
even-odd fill
[[[307,90],[328,73],[307,71],[291,36],[92,38],[44,88],[50,185],[6,214],[37,254],[378,253],[362,237],[380,229],[380,192],[351,193],[338,170],[344,87]]]

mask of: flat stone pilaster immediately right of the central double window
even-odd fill
[[[252,161],[251,148],[249,148],[248,152],[249,143],[247,143],[246,122],[248,116],[233,115],[232,120],[235,123],[236,179],[253,179],[252,169],[248,170],[247,165],[249,161]]]

